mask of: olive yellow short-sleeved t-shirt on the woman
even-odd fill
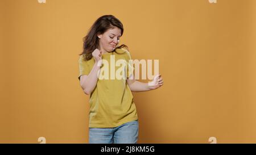
[[[98,81],[89,98],[89,128],[114,128],[138,119],[133,94],[126,82],[126,78],[133,74],[129,71],[134,70],[129,61],[130,52],[123,48],[115,51],[102,55]],[[88,75],[95,64],[94,58],[84,61],[84,56],[79,58],[79,80],[80,76]],[[126,62],[126,65],[120,62]],[[114,74],[125,78],[113,77]]]

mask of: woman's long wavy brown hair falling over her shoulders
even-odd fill
[[[93,23],[87,35],[82,39],[84,43],[83,43],[83,51],[80,54],[80,56],[85,54],[85,57],[84,57],[85,61],[90,60],[93,57],[92,52],[94,51],[94,49],[98,48],[99,40],[97,35],[103,34],[109,28],[113,28],[114,26],[121,29],[121,36],[122,36],[123,24],[120,22],[119,19],[115,18],[115,16],[113,15],[101,16]],[[125,44],[122,44],[116,47],[113,52],[117,53],[117,51],[115,51],[116,49],[124,48],[124,47],[128,50],[128,47]]]

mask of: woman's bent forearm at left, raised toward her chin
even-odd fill
[[[86,94],[92,93],[92,91],[96,87],[98,81],[98,70],[100,70],[100,66],[97,66],[97,64],[95,63],[92,70],[88,74],[88,77],[82,83],[82,88]]]

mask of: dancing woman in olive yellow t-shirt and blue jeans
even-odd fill
[[[122,35],[122,23],[113,15],[104,15],[94,22],[84,37],[79,80],[84,93],[90,95],[89,143],[137,143],[138,115],[131,91],[154,90],[163,85],[160,75],[155,76],[151,85],[133,79],[133,72],[129,72],[133,67],[129,65],[128,48],[123,44],[117,46]],[[126,78],[99,78],[103,66],[107,65],[102,62],[110,62],[113,58],[127,62]],[[109,68],[112,72],[112,67],[105,66]],[[105,74],[109,76],[108,72]]]

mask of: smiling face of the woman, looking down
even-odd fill
[[[119,43],[121,29],[118,27],[109,28],[105,33],[98,35],[100,38],[100,49],[103,52],[112,52]]]

